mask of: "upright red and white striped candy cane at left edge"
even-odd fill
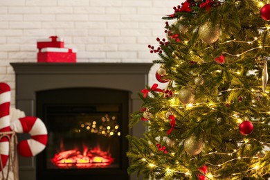
[[[10,86],[4,82],[0,82],[0,133],[1,132],[10,132]],[[0,139],[0,156],[3,168],[8,161],[8,152],[8,138],[3,136],[3,138]]]

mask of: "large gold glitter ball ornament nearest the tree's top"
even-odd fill
[[[199,27],[199,39],[207,44],[212,44],[219,39],[220,28],[219,25],[213,26],[210,21],[206,21]]]

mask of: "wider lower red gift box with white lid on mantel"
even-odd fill
[[[76,53],[71,48],[42,48],[37,62],[76,62]]]

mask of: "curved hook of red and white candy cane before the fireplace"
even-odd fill
[[[21,156],[35,156],[46,147],[48,133],[46,126],[39,118],[30,116],[19,118],[10,124],[10,128],[17,133],[31,135],[30,139],[21,141],[18,145],[18,152]]]

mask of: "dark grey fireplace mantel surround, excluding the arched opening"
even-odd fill
[[[131,94],[129,114],[138,111],[141,89],[148,84],[152,63],[10,63],[15,70],[15,103],[26,116],[36,116],[36,93],[51,89],[93,87],[119,89]],[[142,123],[129,129],[129,134],[141,137]],[[19,159],[19,179],[35,178],[35,158]],[[136,179],[136,177],[130,177]]]

